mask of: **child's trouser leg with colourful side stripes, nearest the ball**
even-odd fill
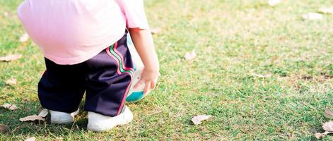
[[[126,37],[86,61],[86,111],[112,117],[122,113],[134,73]]]

